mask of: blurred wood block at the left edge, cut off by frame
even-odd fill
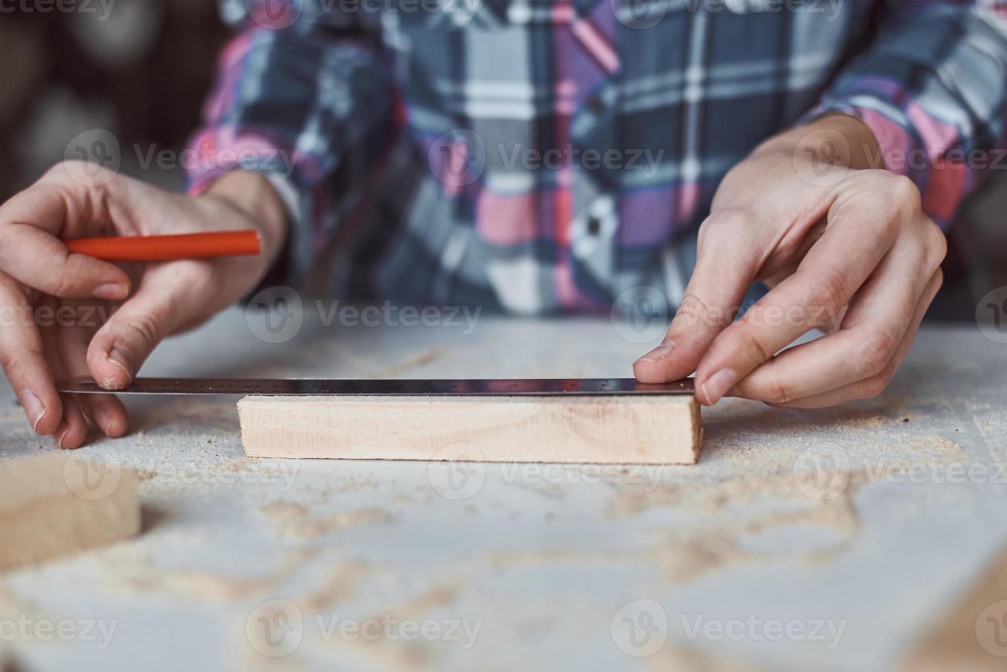
[[[0,460],[0,569],[140,531],[137,476],[60,451]]]

